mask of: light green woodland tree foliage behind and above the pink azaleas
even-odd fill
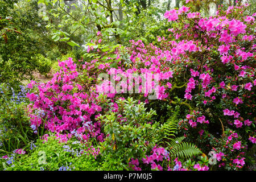
[[[161,21],[171,7],[190,6],[210,16],[218,6],[227,8],[241,1],[210,0],[10,0],[0,1],[0,80],[14,86],[46,75],[51,64],[69,55],[83,59],[87,43],[98,31],[105,44],[129,44],[141,39],[155,42],[156,35],[168,36],[169,22]],[[255,11],[255,2],[250,12]],[[161,22],[161,23],[160,23]],[[46,57],[46,60],[43,60]],[[44,64],[42,64],[44,62]]]

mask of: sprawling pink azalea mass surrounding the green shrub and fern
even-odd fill
[[[159,85],[146,80],[148,88],[142,92],[145,88],[140,86],[134,97],[150,104],[157,113],[160,112],[159,103],[179,105],[182,108],[180,136],[195,143],[205,154],[213,151],[217,161],[213,164],[215,168],[245,167],[249,162],[246,151],[255,143],[256,120],[256,14],[242,16],[247,6],[229,7],[226,11],[218,9],[215,16],[208,18],[185,6],[166,11],[164,18],[173,23],[166,37],[158,36],[155,44],[130,40],[130,47],[123,50],[121,46],[110,52],[94,49],[102,43],[101,32],[98,32],[87,50],[88,54],[97,55],[93,60],[80,60],[75,64],[69,58],[59,62],[60,71],[51,81],[28,84],[30,89],[36,87],[27,93],[31,101],[28,106],[31,125],[36,129],[45,127],[63,141],[76,136],[82,141],[96,138],[104,142],[106,136],[96,118],[109,109],[117,111],[118,95],[128,97],[129,94],[124,89],[121,93],[103,92],[113,104],[111,108],[105,107],[106,101],[98,93],[104,91],[97,85],[98,74],[118,73],[127,77],[126,81],[121,81],[115,76],[114,81],[128,91],[132,89],[129,81],[133,77],[129,76],[133,73],[158,74]],[[129,64],[126,63],[127,55]],[[78,68],[82,72],[79,73]],[[142,77],[137,77],[137,84],[142,83]],[[114,89],[113,83],[106,81],[104,84],[107,91]],[[154,89],[158,91],[156,100],[148,101],[150,90]],[[163,160],[170,161],[170,165],[161,166],[159,162]],[[154,147],[151,155],[130,159],[127,164],[134,170],[147,165],[154,170],[209,169],[207,162],[187,167],[188,163],[170,158],[163,147]]]

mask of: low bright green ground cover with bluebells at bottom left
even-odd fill
[[[6,163],[10,158],[0,160],[5,164],[6,170],[11,171],[92,171],[97,170],[100,163],[91,150],[93,148],[87,147],[76,138],[61,143],[56,137],[49,136],[31,143],[27,154],[7,155],[10,158],[14,156],[12,164]]]

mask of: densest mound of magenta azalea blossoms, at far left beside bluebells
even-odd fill
[[[60,71],[57,72],[51,81],[46,84],[36,85],[38,94],[27,93],[27,97],[33,104],[28,105],[31,125],[39,127],[43,119],[46,119],[44,127],[49,131],[56,132],[57,137],[65,141],[67,134],[61,134],[63,131],[69,131],[80,139],[87,139],[86,133],[92,137],[98,137],[102,140],[103,134],[100,132],[100,126],[92,123],[90,117],[101,111],[98,105],[97,94],[90,92],[90,95],[84,92],[84,88],[76,82],[78,73],[76,64],[69,58],[60,62]],[[28,88],[35,86],[31,81]],[[77,91],[74,88],[77,88]],[[39,112],[40,111],[40,114]],[[76,130],[76,132],[74,132]],[[69,134],[69,135],[70,135]]]

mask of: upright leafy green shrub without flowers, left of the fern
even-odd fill
[[[138,104],[131,97],[127,100],[121,98],[116,104],[97,118],[103,123],[107,136],[100,143],[101,155],[105,158],[102,168],[105,170],[127,169],[131,158],[142,158],[158,140],[158,123],[150,123],[156,114],[154,110],[147,112],[143,102]]]

